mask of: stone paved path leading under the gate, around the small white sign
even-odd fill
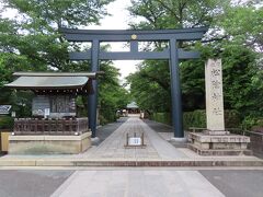
[[[126,134],[133,136],[145,134],[145,148],[125,148]],[[138,117],[129,117],[110,137],[107,137],[96,148],[88,150],[85,157],[93,159],[139,159],[139,160],[161,160],[187,158],[176,150],[172,144],[161,138],[147,124]]]

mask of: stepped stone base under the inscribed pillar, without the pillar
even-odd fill
[[[240,135],[207,135],[190,132],[188,148],[201,155],[250,155],[247,149],[250,138]]]

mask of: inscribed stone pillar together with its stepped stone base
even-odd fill
[[[221,60],[209,59],[205,66],[207,130],[191,132],[188,148],[201,155],[251,154],[250,138],[230,135],[225,129]]]

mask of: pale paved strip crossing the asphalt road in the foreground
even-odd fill
[[[52,197],[224,197],[197,171],[77,171]]]

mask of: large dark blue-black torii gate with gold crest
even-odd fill
[[[182,30],[159,30],[159,31],[105,31],[105,30],[60,30],[69,42],[91,42],[92,47],[88,51],[70,53],[71,60],[91,59],[91,71],[100,70],[99,59],[103,60],[141,60],[141,59],[169,59],[171,74],[171,97],[172,97],[172,124],[174,138],[184,138],[181,85],[179,77],[179,59],[198,58],[198,51],[185,51],[178,48],[178,42],[198,40],[206,33],[207,27],[182,28]],[[102,51],[101,42],[129,42],[129,51]],[[139,51],[138,42],[169,42],[169,47],[162,51]],[[96,104],[98,104],[98,81],[93,80],[94,93],[89,95],[89,127],[92,137],[96,137]]]

